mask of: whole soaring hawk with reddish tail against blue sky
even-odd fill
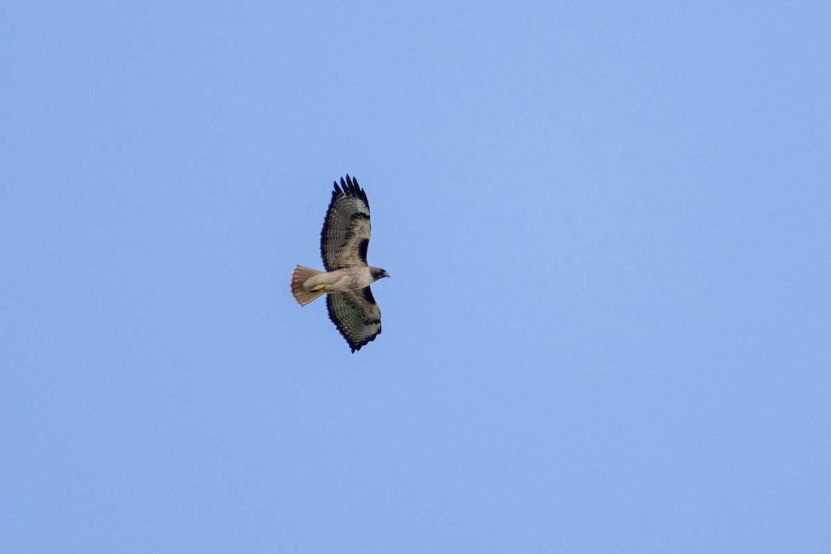
[[[292,274],[292,294],[301,306],[326,294],[329,319],[354,353],[381,334],[381,310],[369,286],[390,274],[366,263],[372,233],[366,193],[348,174],[346,180],[341,178],[341,186],[337,181],[334,185],[320,233],[326,271],[297,266]]]

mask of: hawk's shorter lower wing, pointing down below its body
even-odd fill
[[[381,335],[381,309],[370,287],[359,291],[330,292],[326,297],[329,319],[341,331],[352,352]]]

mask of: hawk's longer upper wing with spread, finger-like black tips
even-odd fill
[[[358,186],[357,179],[347,174],[347,180],[341,178],[340,187],[335,183],[320,233],[320,255],[326,271],[366,266],[371,233],[366,193]]]

